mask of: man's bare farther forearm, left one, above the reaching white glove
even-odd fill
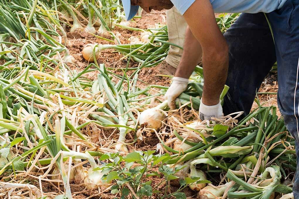
[[[186,29],[184,51],[176,71],[176,77],[189,78],[202,58],[202,47],[193,36],[189,27]]]

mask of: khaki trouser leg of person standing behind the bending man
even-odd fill
[[[169,42],[184,46],[185,31],[187,23],[179,11],[173,7],[166,11],[166,20],[168,27]],[[170,46],[170,50],[165,61],[171,66],[177,68],[183,54],[183,50],[178,47]]]

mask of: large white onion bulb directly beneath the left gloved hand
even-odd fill
[[[158,130],[162,127],[162,121],[166,118],[162,110],[167,107],[167,101],[158,106],[147,109],[140,114],[139,124],[145,128]]]

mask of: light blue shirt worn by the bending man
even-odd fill
[[[170,0],[183,15],[196,0]],[[210,0],[215,13],[270,13],[287,0]]]

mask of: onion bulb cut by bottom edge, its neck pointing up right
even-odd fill
[[[200,192],[197,194],[196,199],[216,199],[216,197],[221,198],[225,192],[225,189],[231,185],[231,182],[215,187],[206,186],[205,188],[200,190]]]

